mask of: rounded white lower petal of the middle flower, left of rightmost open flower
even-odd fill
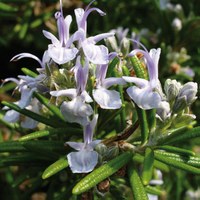
[[[118,109],[122,105],[119,92],[115,90],[107,90],[101,87],[93,90],[93,97],[103,109]]]

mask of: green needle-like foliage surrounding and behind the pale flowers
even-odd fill
[[[198,5],[198,1],[171,1],[171,7],[161,2],[165,1],[98,0],[92,4],[92,7],[105,11],[107,16],[101,17],[96,13],[89,16],[88,35],[108,32],[122,26],[129,28],[126,38],[139,37],[147,49],[161,48],[159,80],[170,108],[166,111],[164,107],[159,112],[158,108],[146,109],[137,103],[137,99],[134,103],[126,91],[129,87],[136,87],[137,84],[130,81],[111,87],[120,94],[121,108],[109,110],[101,108],[101,103],[98,101],[90,103],[94,113],[98,114],[95,138],[101,140],[101,143],[92,149],[92,152],[98,153],[98,164],[90,173],[72,173],[71,161],[66,157],[72,149],[70,142],[66,141],[80,143],[83,133],[85,134],[88,128],[87,125],[95,121],[95,115],[93,119],[89,117],[87,125],[82,121],[71,123],[62,110],[62,102],[68,102],[70,98],[54,96],[51,93],[78,85],[74,78],[75,70],[74,74],[70,71],[70,68],[76,65],[75,61],[59,65],[54,61],[50,67],[48,66],[49,68],[45,66],[45,71],[42,73],[36,70],[38,69],[36,62],[27,60],[14,64],[7,62],[13,54],[26,50],[41,57],[48,45],[48,40],[41,34],[42,30],[50,29],[53,34],[57,34],[54,13],[60,10],[59,2],[54,0],[0,2],[0,22],[3,26],[0,45],[6,49],[2,57],[7,59],[2,63],[6,69],[3,78],[12,74],[17,76],[22,72],[33,80],[45,75],[48,79],[45,79],[45,83],[42,82],[42,86],[50,89],[50,92],[41,92],[43,90],[32,92],[32,98],[37,100],[37,105],[40,105],[40,112],[35,112],[28,106],[21,107],[20,103],[15,103],[20,102],[20,92],[23,91],[21,89],[11,95],[11,90],[16,87],[15,83],[6,81],[0,88],[2,105],[0,182],[2,191],[6,191],[0,194],[2,199],[26,200],[39,195],[43,199],[54,200],[92,198],[139,200],[151,199],[150,194],[152,194],[160,199],[178,200],[190,199],[195,192],[198,192],[199,100],[194,102],[197,92],[195,86],[187,85],[188,81],[198,82],[200,78],[198,70],[200,13],[198,6],[194,6]],[[69,1],[63,0],[63,12],[71,14],[74,18],[73,9],[86,8],[88,3],[90,1],[84,0],[72,1],[70,4]],[[181,24],[174,22],[176,18]],[[72,22],[70,32],[75,32],[76,29],[76,25]],[[109,42],[105,40],[105,43],[101,41],[101,44],[111,47],[112,43]],[[132,46],[137,44],[130,42],[126,45],[127,43],[121,45],[118,57],[109,61],[106,78],[137,76],[149,81],[151,73],[144,59],[145,52],[143,55],[134,54],[129,57],[128,53],[131,52]],[[80,55],[83,56],[82,53]],[[83,65],[86,63],[84,59],[83,56],[81,59]],[[25,68],[24,65],[28,67]],[[18,67],[22,72],[8,71],[5,66]],[[86,90],[91,96],[98,81],[93,73],[95,70],[96,64],[90,63]],[[170,88],[172,85],[175,88],[173,94]],[[187,86],[189,89],[182,89]],[[16,90],[19,87],[21,86],[18,85]],[[187,93],[188,90],[191,95]],[[186,96],[188,94],[188,99],[184,103],[180,100],[180,91]],[[5,120],[7,111],[4,106],[16,111],[19,120],[13,123]],[[196,119],[192,114],[196,115]],[[27,118],[37,121],[37,126],[33,129],[23,127],[22,122]]]

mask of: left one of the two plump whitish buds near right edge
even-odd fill
[[[165,94],[167,96],[168,101],[173,101],[177,97],[179,90],[181,88],[181,84],[176,80],[167,79],[165,81]]]

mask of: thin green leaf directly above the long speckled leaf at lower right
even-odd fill
[[[195,155],[195,153],[193,151],[179,148],[179,147],[169,146],[169,145],[157,146],[157,147],[155,147],[155,149],[163,149],[168,152],[174,152],[174,153],[179,153],[179,154],[189,155],[189,156]]]

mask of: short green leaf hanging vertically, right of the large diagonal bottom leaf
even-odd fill
[[[144,185],[148,185],[153,175],[154,153],[149,147],[145,150],[145,157],[142,170],[142,182]]]

